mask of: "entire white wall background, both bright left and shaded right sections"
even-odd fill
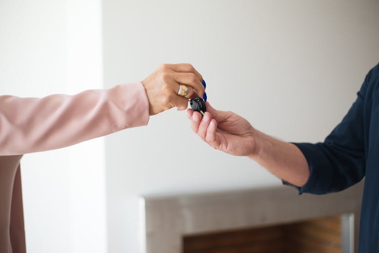
[[[0,0],[0,94],[108,88],[189,62],[216,109],[320,141],[379,62],[378,13],[375,0]],[[141,195],[280,184],[208,147],[174,109],[22,168],[29,253],[138,253]]]

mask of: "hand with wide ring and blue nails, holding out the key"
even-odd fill
[[[142,81],[149,99],[150,115],[177,107],[187,109],[188,98],[196,94],[203,97],[203,77],[191,64],[163,64]],[[188,86],[186,97],[179,96],[179,84]]]

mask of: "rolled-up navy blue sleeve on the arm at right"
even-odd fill
[[[371,70],[372,71],[372,70]],[[324,142],[294,143],[304,154],[310,177],[299,194],[324,194],[341,191],[362,180],[365,175],[364,101],[367,74],[357,99],[342,122],[325,138]]]

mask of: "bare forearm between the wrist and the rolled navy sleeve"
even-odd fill
[[[249,156],[272,174],[296,186],[303,186],[310,176],[307,160],[300,149],[255,130],[256,149]]]

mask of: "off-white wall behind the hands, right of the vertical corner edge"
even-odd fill
[[[107,87],[189,62],[215,108],[289,141],[322,140],[379,62],[374,0],[107,0],[103,13]],[[110,253],[141,252],[140,195],[280,184],[208,147],[176,110],[107,137],[106,165]]]

